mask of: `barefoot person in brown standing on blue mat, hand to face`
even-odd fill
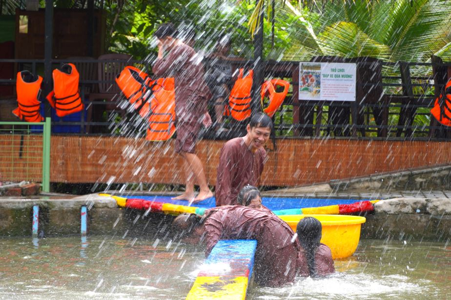
[[[175,151],[183,157],[186,176],[184,193],[173,199],[202,201],[213,196],[206,182],[202,162],[195,154],[201,124],[207,127],[211,125],[211,118],[207,112],[210,91],[204,82],[204,67],[196,52],[175,38],[177,31],[173,24],[161,24],[154,35],[159,43],[158,57],[152,71],[156,76],[174,77],[177,119]],[[196,197],[194,196],[195,180],[200,187]]]

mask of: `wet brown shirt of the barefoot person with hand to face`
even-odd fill
[[[180,43],[153,65],[154,75],[174,77],[175,113],[179,121],[197,121],[207,111],[210,91],[204,82],[201,60],[193,48]]]

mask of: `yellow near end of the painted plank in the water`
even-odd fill
[[[198,277],[186,300],[245,300],[247,277]]]

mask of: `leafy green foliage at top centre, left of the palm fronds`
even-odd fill
[[[175,1],[164,3],[138,0],[125,1],[122,6],[111,1],[107,17],[107,45],[110,52],[128,53],[135,59],[143,59],[149,53],[156,54],[152,34],[158,24],[171,21],[179,29],[196,31],[195,48],[211,51],[223,34],[232,39],[232,50],[237,56],[252,58],[253,41],[249,34],[247,19],[255,8],[255,3],[241,1]],[[291,46],[293,15],[277,15],[274,28],[274,47],[266,38],[264,56],[278,58]],[[271,22],[264,21],[264,35],[271,36]]]

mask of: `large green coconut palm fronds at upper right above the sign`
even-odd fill
[[[258,9],[274,0],[259,0]],[[318,2],[318,1],[317,1]],[[286,59],[332,55],[373,56],[390,61],[427,61],[431,55],[451,59],[451,1],[442,0],[330,0],[312,7],[311,21],[287,0],[278,0],[281,13],[296,14]],[[263,8],[265,9],[265,8]],[[255,30],[258,14],[249,19]],[[319,14],[319,18],[315,15]]]

